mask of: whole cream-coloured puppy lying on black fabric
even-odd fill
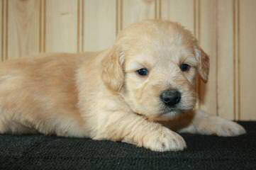
[[[209,61],[188,30],[143,21],[103,52],[46,54],[0,64],[0,132],[91,137],[154,151],[186,147],[172,130],[233,136],[230,120],[191,111]],[[165,128],[160,121],[169,128]]]

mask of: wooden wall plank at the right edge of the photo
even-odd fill
[[[239,1],[240,119],[256,118],[256,1]]]

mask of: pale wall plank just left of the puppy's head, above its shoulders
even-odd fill
[[[117,31],[116,0],[87,0],[84,1],[84,9],[84,50],[111,47]]]

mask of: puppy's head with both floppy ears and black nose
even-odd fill
[[[135,23],[118,35],[103,79],[130,109],[168,120],[195,106],[195,78],[208,79],[209,59],[189,30],[169,21]]]

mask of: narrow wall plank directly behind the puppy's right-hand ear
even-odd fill
[[[210,56],[208,83],[200,82],[199,84],[199,108],[211,115],[217,115],[216,0],[200,1],[199,11],[199,42],[204,51]]]

